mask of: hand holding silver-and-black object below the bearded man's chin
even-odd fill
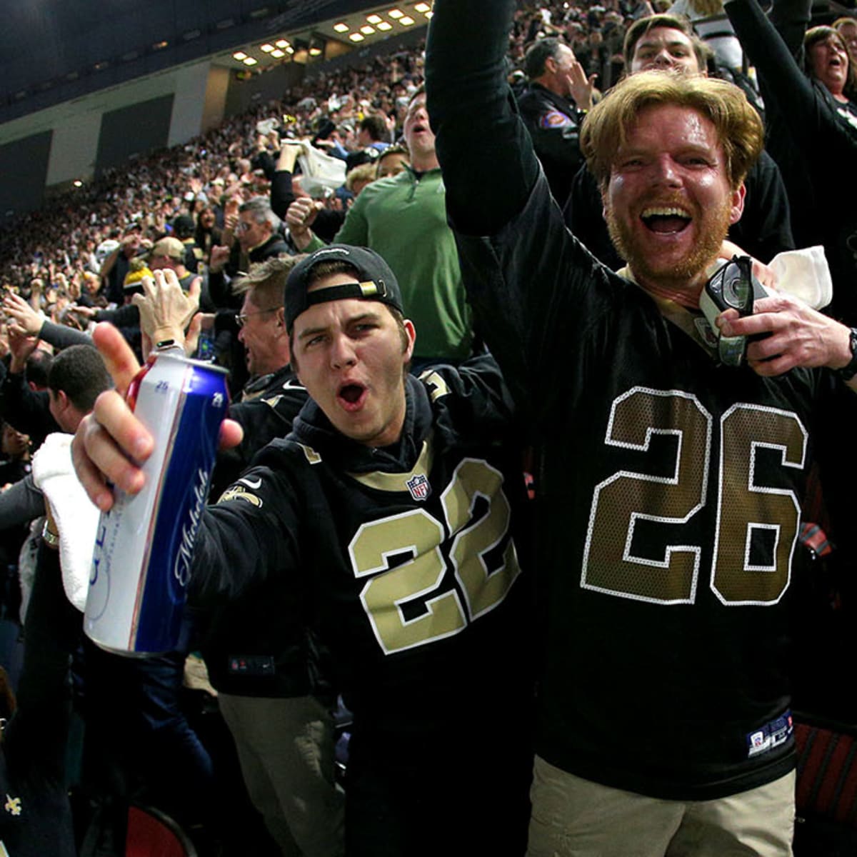
[[[782,375],[796,366],[842,369],[851,360],[850,330],[786,292],[763,297],[753,314],[728,309],[718,316],[723,336],[770,334],[747,345],[747,363],[758,375]],[[857,388],[857,378],[849,382]]]

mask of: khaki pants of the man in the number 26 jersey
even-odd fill
[[[528,857],[791,857],[794,771],[719,800],[659,800],[536,757]]]

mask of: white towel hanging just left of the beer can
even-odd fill
[[[87,604],[99,509],[75,474],[71,462],[73,436],[57,432],[45,438],[33,456],[33,482],[45,494],[57,522],[65,595],[82,611]]]

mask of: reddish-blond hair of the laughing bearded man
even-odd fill
[[[616,153],[626,143],[628,129],[639,112],[655,105],[689,107],[714,125],[726,158],[729,183],[737,189],[764,146],[758,113],[731,83],[663,71],[627,77],[586,117],[580,151],[599,185],[603,188],[608,183]]]

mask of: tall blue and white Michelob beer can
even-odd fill
[[[122,655],[175,650],[194,539],[206,505],[220,423],[229,406],[226,370],[169,351],[150,357],[128,401],[154,438],[139,494],[114,489],[93,550],[83,626]]]

